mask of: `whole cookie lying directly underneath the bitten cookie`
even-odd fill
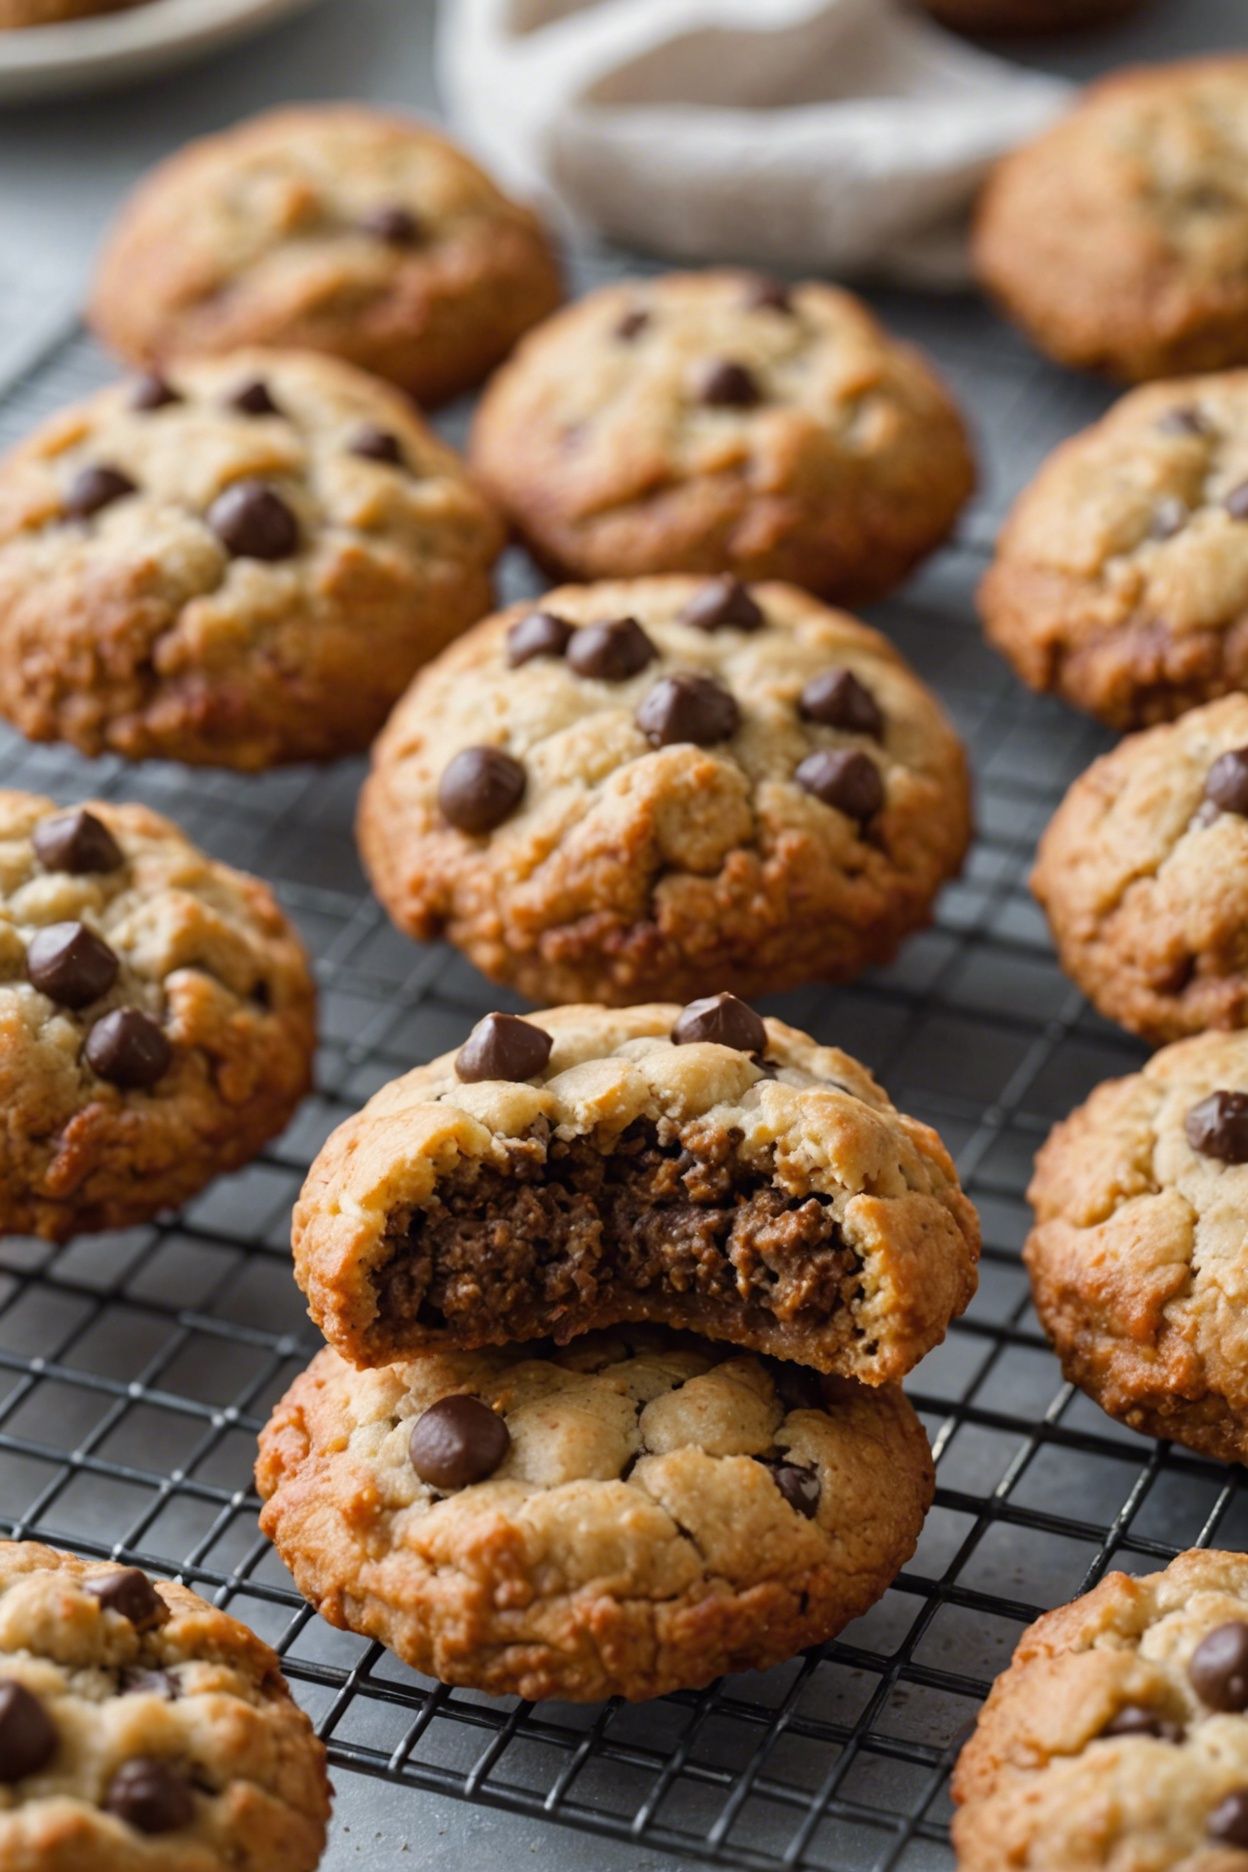
[[[445,1683],[589,1702],[834,1636],[913,1554],[932,1456],[894,1387],[640,1329],[378,1372],[326,1350],[256,1484],[331,1625]]]

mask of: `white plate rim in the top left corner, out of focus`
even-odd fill
[[[56,26],[0,32],[0,103],[99,90],[167,71],[312,0],[142,0]]]

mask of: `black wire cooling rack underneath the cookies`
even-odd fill
[[[588,277],[608,268],[584,262]],[[958,543],[874,614],[971,747],[980,837],[892,968],[771,1005],[939,1127],[986,1252],[967,1318],[907,1387],[939,1462],[922,1543],[836,1644],[642,1707],[530,1705],[447,1690],[309,1612],[251,1492],[256,1430],[316,1348],[290,1279],[290,1206],[329,1129],[500,996],[451,951],[397,936],[369,897],[357,762],[236,779],[0,738],[0,784],[144,799],[273,880],[322,987],[318,1091],[256,1164],[148,1228],[0,1243],[0,1526],[178,1572],[228,1606],[279,1647],[339,1784],[372,1775],[548,1818],[634,1842],[636,1865],[662,1851],[760,1872],[947,1872],[949,1765],[1022,1625],[1110,1565],[1147,1571],[1248,1533],[1239,1471],[1136,1438],[1063,1385],[1018,1260],[1037,1144],[1139,1052],[1063,981],[1025,887],[1035,839],[1100,738],[1023,693],[984,648],[971,593],[1003,502],[1104,397],[971,301],[881,309],[932,348],[980,431],[984,492]],[[65,328],[2,373],[0,350],[7,444],[109,365]],[[462,412],[447,427],[460,434]],[[518,554],[505,586],[537,588]],[[567,1863],[595,1865],[595,1848]]]

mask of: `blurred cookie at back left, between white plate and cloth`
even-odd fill
[[[537,217],[430,125],[299,105],[146,178],[105,245],[92,322],[135,363],[301,346],[442,402],[559,298]]]

